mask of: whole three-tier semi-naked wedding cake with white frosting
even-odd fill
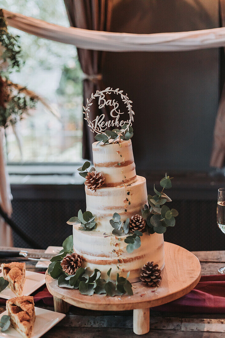
[[[82,257],[86,270],[101,271],[102,278],[111,268],[111,279],[117,273],[129,281],[139,281],[142,266],[154,261],[160,269],[164,267],[163,234],[148,235],[143,232],[141,246],[128,252],[127,235],[114,235],[110,220],[115,213],[124,224],[127,218],[142,215],[148,204],[145,177],[136,175],[131,140],[117,140],[109,144],[94,142],[92,145],[95,171],[104,177],[104,184],[92,190],[85,186],[86,210],[95,215],[96,227],[85,231],[79,224],[73,225],[74,251]]]

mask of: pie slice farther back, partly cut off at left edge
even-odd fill
[[[25,283],[25,263],[12,262],[1,264],[3,278],[9,282],[9,288],[16,296],[21,296]]]

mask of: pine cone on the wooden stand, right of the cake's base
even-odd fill
[[[161,270],[158,269],[158,264],[154,265],[154,262],[148,262],[142,267],[141,281],[148,286],[159,286],[159,282],[162,279]]]

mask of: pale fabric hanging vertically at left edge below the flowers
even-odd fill
[[[3,211],[11,216],[11,193],[9,177],[6,169],[3,151],[4,129],[0,127],[0,203]],[[0,216],[0,246],[12,246],[12,231]]]

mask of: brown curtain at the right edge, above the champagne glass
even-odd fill
[[[221,24],[225,27],[225,0],[220,0]],[[224,48],[225,51],[225,48]],[[225,83],[223,86],[214,128],[214,142],[210,166],[222,168],[225,165]]]

